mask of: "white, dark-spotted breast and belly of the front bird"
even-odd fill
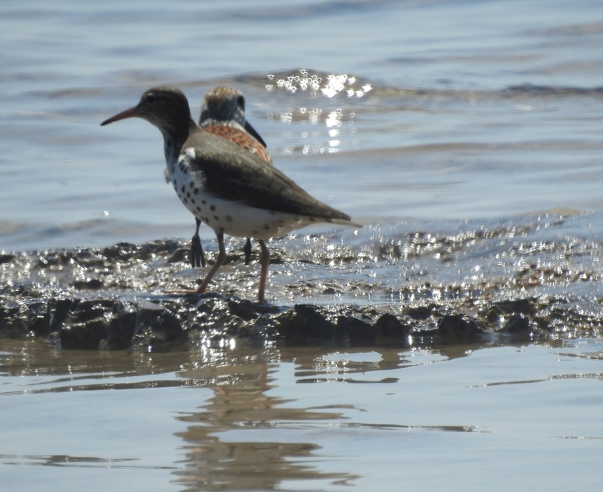
[[[180,201],[216,233],[268,239],[320,221],[305,215],[257,209],[236,201],[222,200],[204,190],[199,172],[190,172],[177,163],[169,165],[168,172]]]

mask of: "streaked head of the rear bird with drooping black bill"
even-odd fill
[[[266,147],[264,139],[245,119],[245,98],[235,87],[214,87],[207,92],[201,105],[199,125],[201,127],[216,124],[238,123],[260,144]]]

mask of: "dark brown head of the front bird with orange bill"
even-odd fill
[[[188,128],[191,109],[182,90],[171,86],[157,86],[145,90],[136,106],[106,119],[101,125],[134,116],[146,119],[163,132]]]

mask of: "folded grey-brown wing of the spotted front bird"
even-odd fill
[[[203,130],[189,137],[181,159],[188,159],[193,172],[202,174],[207,192],[223,200],[358,225],[346,213],[312,198],[269,163]]]

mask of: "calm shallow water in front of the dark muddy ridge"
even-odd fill
[[[601,350],[592,339],[439,350],[200,343],[155,354],[8,344],[3,483],[596,488]]]

